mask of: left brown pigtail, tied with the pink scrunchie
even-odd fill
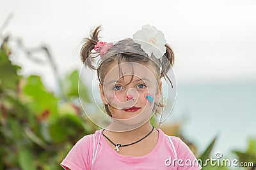
[[[97,26],[93,31],[91,31],[90,38],[84,38],[84,45],[82,46],[80,51],[81,60],[84,66],[87,66],[90,69],[97,69],[97,67],[93,65],[93,62],[94,62],[94,58],[98,57],[99,54],[96,56],[92,56],[93,54],[98,53],[98,52],[92,52],[92,50],[99,41],[98,35],[100,31],[101,31],[101,25]]]

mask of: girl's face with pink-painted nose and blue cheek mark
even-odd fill
[[[147,122],[161,95],[161,81],[157,82],[154,67],[136,62],[109,67],[100,84],[100,94],[103,103],[109,105],[112,118],[131,125]]]

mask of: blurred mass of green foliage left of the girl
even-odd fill
[[[62,169],[61,160],[77,140],[97,130],[71,102],[79,97],[79,72],[64,80],[70,86],[64,90],[69,100],[63,101],[44,87],[40,76],[25,78],[19,69],[1,48],[0,169]]]

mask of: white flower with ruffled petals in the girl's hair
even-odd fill
[[[162,31],[158,31],[156,27],[150,25],[143,25],[142,29],[133,34],[133,41],[141,45],[141,49],[147,53],[149,57],[151,54],[160,59],[166,52],[166,39]]]

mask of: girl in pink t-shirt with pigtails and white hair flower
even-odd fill
[[[114,43],[99,41],[96,27],[81,49],[86,67],[97,70],[111,124],[84,136],[61,162],[64,169],[201,169],[188,146],[150,124],[161,114],[161,78],[173,66],[172,48],[155,27],[144,25]],[[96,55],[96,56],[95,56]],[[94,59],[100,55],[95,66]],[[172,83],[172,81],[170,81]]]

